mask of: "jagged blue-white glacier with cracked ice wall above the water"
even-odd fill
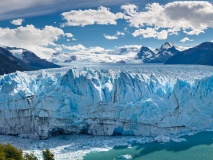
[[[211,67],[89,68],[1,76],[0,134],[157,136],[213,127]]]

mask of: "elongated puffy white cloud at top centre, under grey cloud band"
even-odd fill
[[[116,25],[117,19],[123,18],[122,13],[112,13],[109,8],[99,7],[97,10],[71,10],[61,14],[66,20],[61,26],[86,26],[93,24]]]

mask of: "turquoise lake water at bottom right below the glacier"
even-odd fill
[[[184,136],[187,141],[138,144],[132,148],[115,147],[107,152],[93,152],[84,160],[116,160],[130,154],[133,160],[213,160],[213,132]]]

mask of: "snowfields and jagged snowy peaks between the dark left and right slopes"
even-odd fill
[[[55,52],[48,59],[53,63],[164,63],[182,49],[173,43],[166,42],[160,48],[150,49],[145,46],[130,45],[117,47],[114,50],[89,52],[87,50],[64,53]]]

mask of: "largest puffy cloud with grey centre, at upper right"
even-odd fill
[[[181,30],[188,35],[198,35],[207,28],[213,28],[213,5],[207,1],[175,1],[165,5],[152,3],[142,12],[135,13],[135,7],[125,11],[130,17],[127,19],[130,26],[161,28],[170,35]]]

